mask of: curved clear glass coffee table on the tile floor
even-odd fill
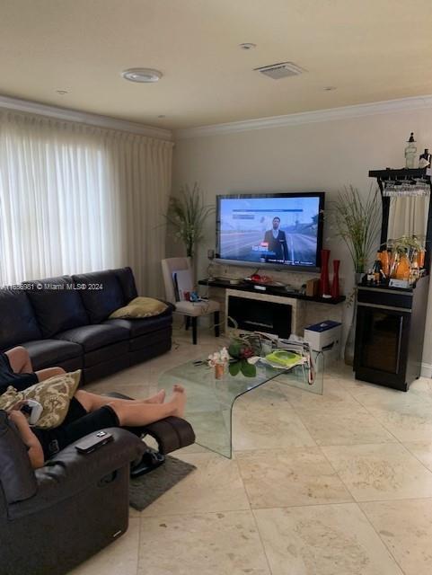
[[[235,400],[242,394],[271,380],[282,385],[292,385],[305,392],[322,394],[323,355],[313,352],[315,376],[309,384],[309,369],[305,366],[292,367],[289,370],[270,367],[264,363],[256,364],[257,374],[245,377],[242,374],[230,376],[228,368],[222,379],[216,379],[215,368],[207,366],[207,358],[197,365],[197,360],[187,361],[166,371],[159,378],[159,389],[172,388],[174,384],[184,385],[188,401],[185,419],[195,431],[196,443],[211,451],[231,458],[232,417]]]

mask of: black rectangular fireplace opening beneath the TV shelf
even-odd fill
[[[238,327],[240,330],[248,332],[274,333],[280,338],[289,338],[291,335],[291,314],[291,305],[228,296],[228,327]]]

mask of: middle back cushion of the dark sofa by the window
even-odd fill
[[[43,337],[51,338],[58,332],[86,325],[89,318],[70,276],[25,282]]]

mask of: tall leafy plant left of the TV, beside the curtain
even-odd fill
[[[170,199],[165,217],[174,228],[176,236],[184,243],[188,256],[194,256],[197,243],[203,239],[207,217],[214,212],[213,206],[204,204],[202,191],[197,182],[191,190],[188,184],[185,184],[179,196]]]

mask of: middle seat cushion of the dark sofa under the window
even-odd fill
[[[80,359],[82,366],[83,348],[72,341],[37,340],[22,343],[30,354],[33,369],[58,366],[68,359]],[[78,367],[76,367],[77,369]]]

